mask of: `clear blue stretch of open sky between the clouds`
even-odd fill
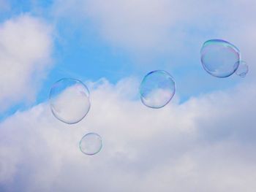
[[[1,119],[17,110],[26,110],[31,104],[46,101],[50,86],[62,77],[73,77],[83,81],[97,81],[104,77],[116,83],[124,77],[131,76],[141,80],[143,75],[150,71],[165,69],[175,77],[181,102],[201,93],[231,88],[241,81],[238,77],[219,80],[203,71],[199,54],[201,45],[207,39],[222,37],[214,28],[208,30],[192,25],[185,26],[182,29],[191,38],[195,36],[198,40],[186,39],[187,42],[181,42],[184,47],[177,50],[170,50],[169,47],[163,51],[154,48],[133,50],[133,47],[122,47],[104,39],[93,19],[77,20],[77,16],[72,18],[62,15],[58,17],[55,7],[54,1],[8,1],[8,9],[1,14],[2,21],[24,14],[33,15],[42,18],[54,28],[51,53],[53,64],[39,87],[37,99],[29,103],[29,106],[28,103],[24,105],[24,101],[20,101],[2,113]],[[167,37],[171,36],[172,31],[168,31]]]

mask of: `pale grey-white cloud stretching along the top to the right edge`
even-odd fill
[[[140,57],[143,53],[175,57],[199,50],[206,39],[239,43],[238,36],[243,39],[246,28],[255,27],[252,7],[253,0],[76,0],[56,1],[53,11],[79,22],[89,20],[110,45]],[[246,13],[241,14],[241,9]]]

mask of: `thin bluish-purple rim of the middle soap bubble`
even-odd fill
[[[170,79],[173,81],[173,84],[174,84],[172,96],[171,96],[170,99],[166,102],[166,104],[162,105],[162,107],[165,107],[165,106],[170,102],[170,100],[173,99],[173,96],[174,96],[175,93],[176,93],[176,82],[175,82],[173,76],[172,76],[169,72],[166,72],[165,70],[162,70],[162,69],[158,69],[158,70],[154,70],[154,71],[148,72],[148,73],[143,77],[143,80],[140,82],[140,88],[139,88],[139,89],[140,89],[140,101],[141,101],[146,107],[149,107],[149,108],[152,108],[152,109],[160,109],[160,108],[162,108],[162,107],[152,107],[152,106],[147,105],[147,104],[143,101],[143,98],[144,98],[144,97],[142,96],[143,94],[141,93],[141,86],[142,86],[143,82],[146,80],[146,77],[148,77],[148,75],[150,75],[150,74],[153,74],[154,72],[162,72],[162,73],[167,74],[167,75],[170,77]]]

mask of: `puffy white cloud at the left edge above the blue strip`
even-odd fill
[[[33,101],[50,67],[52,29],[39,18],[20,15],[0,25],[0,112]]]

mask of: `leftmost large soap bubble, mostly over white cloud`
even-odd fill
[[[90,110],[89,90],[80,80],[64,78],[50,89],[50,108],[53,115],[64,123],[82,120]]]

